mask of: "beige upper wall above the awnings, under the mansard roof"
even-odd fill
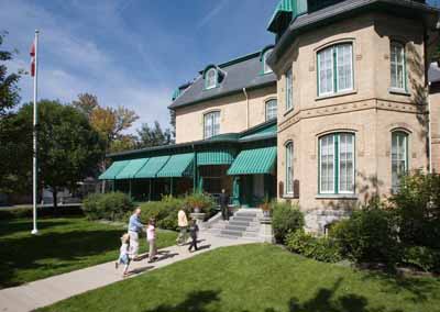
[[[249,125],[246,119],[246,98],[244,92],[200,102],[176,110],[176,143],[204,138],[204,115],[220,111],[220,134],[238,133],[265,121],[265,102],[276,99],[276,85],[248,90]]]

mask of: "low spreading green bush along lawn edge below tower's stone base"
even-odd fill
[[[342,259],[333,239],[315,237],[305,233],[304,230],[297,230],[287,234],[286,246],[293,253],[314,258],[318,261],[338,263]]]

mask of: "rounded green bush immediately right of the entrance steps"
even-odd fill
[[[304,215],[297,205],[288,202],[272,204],[272,227],[276,242],[284,243],[288,233],[302,229]]]

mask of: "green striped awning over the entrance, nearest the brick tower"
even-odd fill
[[[237,156],[228,175],[271,174],[276,161],[276,146],[244,149]]]

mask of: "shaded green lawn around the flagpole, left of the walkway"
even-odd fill
[[[0,221],[0,288],[114,260],[124,226],[81,218],[43,219],[34,236],[31,220]],[[175,244],[177,234],[160,232],[158,247]],[[141,239],[141,252],[147,249]]]

